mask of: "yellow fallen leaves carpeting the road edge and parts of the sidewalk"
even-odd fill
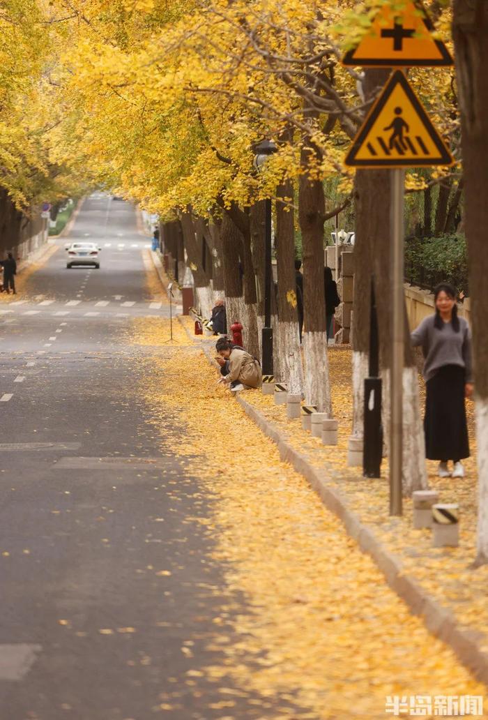
[[[223,685],[230,675],[238,692],[260,693],[263,708],[266,698],[279,698],[284,706],[276,720],[376,720],[385,717],[387,695],[483,695],[484,686],[389,590],[307,481],[281,462],[275,444],[230,392],[216,386],[217,375],[198,346],[179,336],[181,345],[169,359],[167,351],[163,356],[158,346],[167,335],[165,320],[135,321],[133,342],[155,346],[153,355],[140,359],[147,378],[145,402],[156,425],[164,408],[186,428],[184,435],[171,436],[171,429],[161,426],[161,435],[176,455],[192,458],[188,472],[199,478],[211,500],[206,531],[224,568],[229,608],[238,595],[249,608],[233,621],[232,639],[219,630],[217,618],[212,647],[221,649],[222,663],[205,668],[205,678]],[[333,377],[340,377],[335,382],[340,388],[339,395],[335,391],[338,449],[324,449],[301,434],[299,421],[285,421],[283,410],[261,392],[249,391],[246,399],[289,428],[314,462],[332,462],[340,471],[345,470],[348,433],[348,354],[331,353],[331,360]],[[344,472],[348,476],[344,485],[351,504],[378,523],[388,541],[385,481],[366,485]],[[405,532],[414,545],[427,544],[423,534],[409,531],[407,518],[408,508],[405,521],[396,523],[397,532],[402,537]],[[464,537],[459,551],[446,553],[450,563],[457,554],[466,556]],[[439,556],[428,554],[437,570]],[[435,573],[426,574],[435,584]],[[228,621],[222,618],[222,624]],[[198,677],[199,672],[190,678],[196,687]],[[232,714],[232,691],[225,686],[221,691],[222,720],[243,720]],[[308,709],[292,714],[288,702]],[[173,707],[171,698],[167,706]]]

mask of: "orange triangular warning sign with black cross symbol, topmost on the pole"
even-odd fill
[[[449,66],[453,58],[441,40],[431,35],[433,24],[418,1],[407,0],[405,9],[384,5],[371,31],[343,58],[343,65],[369,67]]]

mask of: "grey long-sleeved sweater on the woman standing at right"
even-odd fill
[[[466,369],[466,382],[471,378],[471,330],[464,318],[459,318],[459,331],[452,323],[443,323],[442,329],[434,325],[435,315],[424,318],[412,333],[412,345],[421,345],[425,358],[423,376],[430,380],[443,365],[458,365]]]

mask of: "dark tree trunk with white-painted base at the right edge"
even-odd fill
[[[476,564],[488,562],[488,3],[454,0],[453,38],[461,109],[464,225],[468,243],[471,322],[476,372],[479,516]]]

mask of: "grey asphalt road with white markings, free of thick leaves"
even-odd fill
[[[148,238],[103,194],[71,238],[99,242],[101,269],[67,270],[60,248],[0,305],[0,718],[274,717],[187,683],[230,630],[211,541],[185,520],[208,505],[137,397],[126,331],[168,312],[145,289]]]

